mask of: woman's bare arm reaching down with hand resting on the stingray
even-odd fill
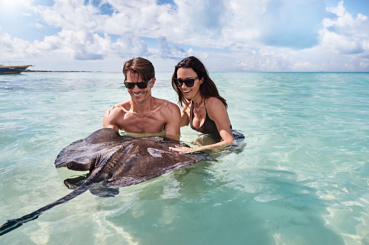
[[[206,102],[208,116],[211,120],[215,122],[215,125],[217,125],[218,132],[223,140],[215,144],[200,146],[196,148],[177,147],[177,146],[170,147],[169,148],[170,150],[182,153],[191,153],[198,152],[200,150],[217,149],[220,147],[228,146],[234,142],[234,137],[230,129],[230,120],[224,104],[219,99],[214,97],[207,98]]]

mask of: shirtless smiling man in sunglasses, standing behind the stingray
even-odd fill
[[[155,84],[154,66],[147,59],[138,57],[123,65],[124,85],[131,96],[108,109],[103,127],[121,128],[130,133],[161,133],[179,140],[180,110],[172,102],[151,96]]]

